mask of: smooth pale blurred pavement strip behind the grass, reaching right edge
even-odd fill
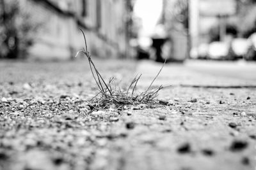
[[[150,60],[142,60],[136,73],[142,74],[141,86],[150,81],[163,64]],[[154,85],[181,85],[185,87],[256,87],[255,62],[223,62],[187,60],[184,64],[168,63],[156,79]]]

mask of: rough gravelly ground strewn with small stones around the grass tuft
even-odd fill
[[[148,71],[129,60],[95,64],[122,86]],[[200,77],[180,69],[159,76],[175,84],[159,92],[161,105],[93,110],[77,102],[98,92],[86,60],[1,61],[0,169],[254,169],[256,89],[179,85]],[[139,90],[154,75],[145,77]]]

